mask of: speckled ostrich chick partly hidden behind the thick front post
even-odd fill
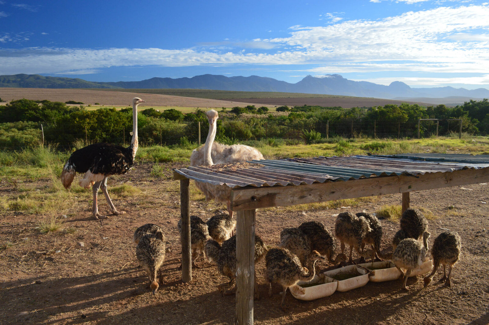
[[[205,256],[209,262],[216,264],[219,273],[229,278],[229,282],[219,284],[219,291],[222,296],[226,294],[227,289],[231,287],[236,279],[236,236],[233,236],[222,243],[222,246],[216,240],[209,239],[204,246]],[[255,264],[258,263],[267,253],[267,245],[262,238],[255,235]],[[258,283],[255,272],[255,298],[260,298]]]

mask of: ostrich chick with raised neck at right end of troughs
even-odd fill
[[[428,238],[430,233],[425,231],[423,233],[423,242],[414,238],[406,238],[400,241],[392,255],[392,261],[396,264],[401,278],[404,277],[404,283],[402,288],[409,290],[406,287],[407,278],[411,274],[411,271],[419,266],[426,260],[426,253],[428,252]],[[406,270],[404,273],[402,269]]]

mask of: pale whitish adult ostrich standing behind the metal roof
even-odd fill
[[[217,119],[219,114],[214,109],[206,113],[209,120],[209,133],[205,145],[195,149],[190,156],[190,166],[212,166],[231,162],[243,162],[246,160],[262,160],[263,154],[256,148],[245,145],[223,145],[215,142]],[[205,195],[205,200],[213,199],[216,202],[226,203],[229,215],[233,216],[231,210],[231,189],[226,185],[212,185],[208,183],[195,182],[197,188]]]

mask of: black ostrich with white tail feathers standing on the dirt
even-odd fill
[[[125,174],[133,166],[137,150],[137,106],[141,103],[144,103],[142,99],[133,98],[133,140],[128,148],[104,142],[94,143],[73,152],[63,167],[61,182],[66,189],[71,186],[76,173],[84,173],[80,180],[81,187],[88,189],[93,185],[92,214],[95,219],[107,218],[107,216],[98,213],[97,195],[99,188],[102,188],[112,214],[125,214],[124,211],[117,211],[111,201],[109,192],[107,192],[107,177],[113,174]]]

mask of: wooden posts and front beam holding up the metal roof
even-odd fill
[[[180,180],[180,214],[182,226],[182,281],[192,280],[190,245],[190,179],[174,172]],[[311,185],[245,186],[232,189],[231,206],[237,214],[236,224],[236,324],[253,324],[254,246],[256,209],[296,204],[326,202],[364,196],[402,194],[402,210],[409,208],[409,193],[489,182],[489,167],[453,172],[413,175],[389,175],[347,181],[312,183]]]

